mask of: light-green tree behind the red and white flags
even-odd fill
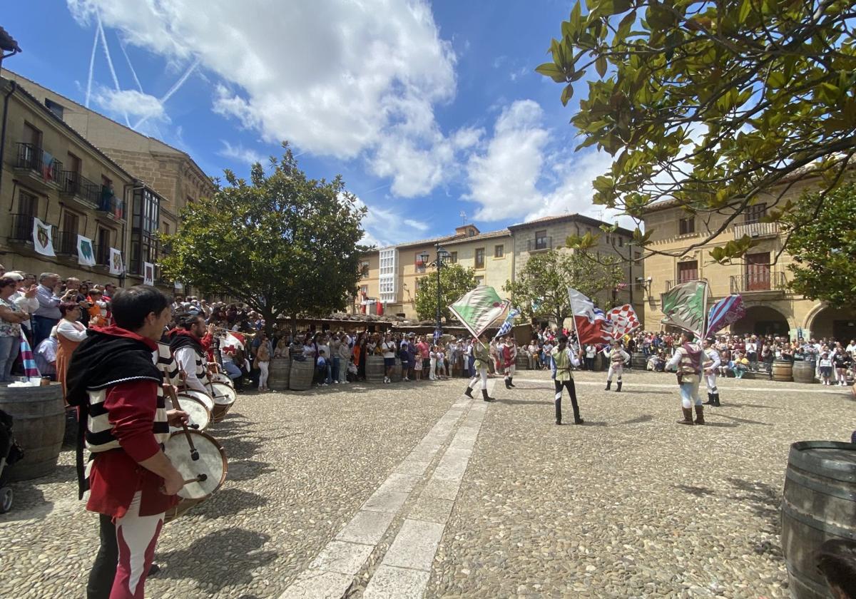
[[[595,259],[586,252],[549,252],[532,255],[516,275],[502,287],[514,298],[514,305],[530,316],[550,317],[561,327],[571,316],[568,288],[577,289],[590,298],[607,292],[606,305],[611,291],[624,280],[618,259],[612,256]]]

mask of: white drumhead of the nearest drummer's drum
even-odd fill
[[[169,436],[164,443],[163,453],[185,480],[199,477],[200,474],[206,475],[205,481],[184,485],[178,495],[184,499],[205,499],[226,480],[226,454],[212,436],[198,430],[191,430],[190,436],[199,452],[199,460],[193,460],[183,431]]]

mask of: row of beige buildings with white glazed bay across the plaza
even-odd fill
[[[362,257],[362,278],[354,303],[354,311],[366,305],[372,311],[377,301],[383,302],[384,313],[416,318],[416,291],[419,279],[436,276],[437,246],[449,252],[448,263],[473,269],[480,285],[495,288],[500,295],[507,282],[514,281],[530,256],[550,249],[572,251],[565,246],[570,234],[601,234],[595,252],[624,259],[627,282],[617,289],[603,291],[603,298],[627,303],[633,288],[644,288],[642,261],[629,264],[632,233],[620,228],[614,234],[603,234],[603,222],[581,215],[550,216],[538,221],[512,225],[508,228],[482,233],[473,224],[455,229],[454,234],[427,240],[417,240],[366,252]],[[641,254],[639,254],[641,258]],[[633,282],[633,284],[631,284]],[[641,295],[633,295],[641,314]]]

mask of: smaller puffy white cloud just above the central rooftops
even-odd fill
[[[479,204],[476,220],[498,221],[538,209],[542,195],[536,185],[549,137],[543,114],[532,100],[514,102],[496,119],[484,154],[470,158],[465,199]]]

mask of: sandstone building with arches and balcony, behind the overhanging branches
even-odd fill
[[[732,325],[734,333],[789,335],[792,339],[834,336],[845,342],[856,338],[856,314],[805,299],[788,289],[788,265],[793,258],[783,251],[785,236],[778,223],[764,222],[767,211],[777,202],[795,200],[803,191],[816,188],[816,182],[806,180],[795,183],[781,199],[778,194],[764,194],[722,233],[704,243],[727,216],[693,215],[669,201],[652,205],[644,222],[645,231],[651,232],[650,248],[657,253],[645,258],[645,272],[651,277],[645,294],[645,328],[662,329],[663,292],[680,282],[703,279],[709,284],[710,303],[729,294],[743,296],[746,317]],[[744,235],[757,244],[742,261],[718,264],[710,258],[710,250]]]

